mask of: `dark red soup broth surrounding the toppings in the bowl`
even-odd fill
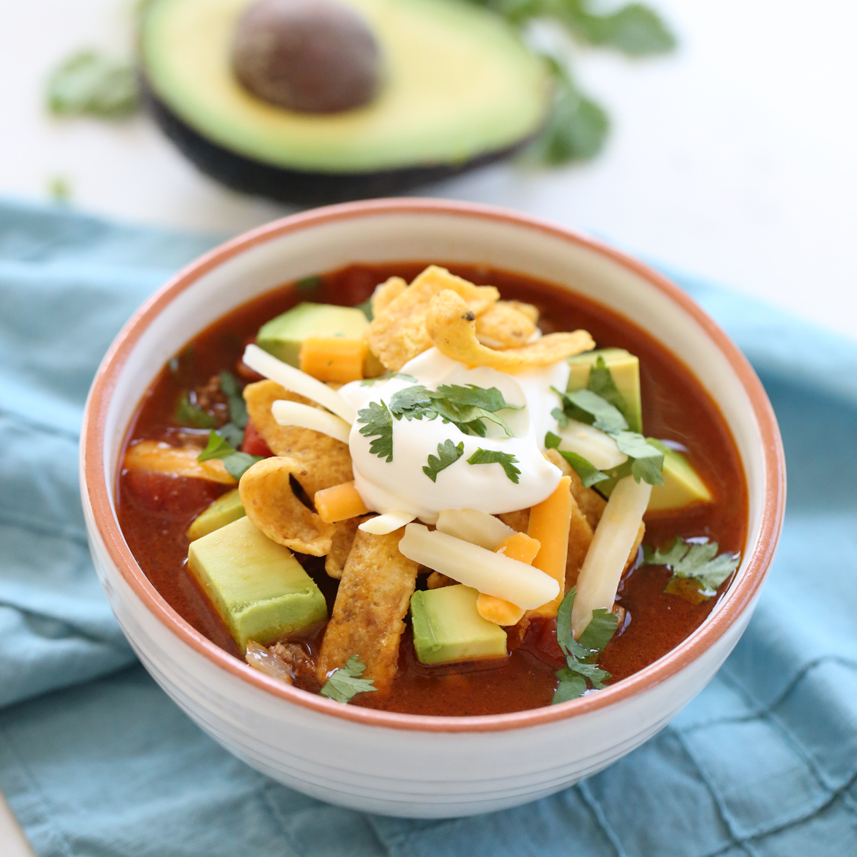
[[[178,359],[178,368],[161,372],[142,396],[129,425],[126,446],[136,440],[169,440],[179,431],[173,420],[183,390],[212,375],[235,371],[244,344],[275,315],[304,300],[354,305],[375,285],[398,275],[413,279],[423,262],[351,266],[320,278],[284,285],[231,311],[195,337]],[[582,327],[599,348],[620,347],[640,360],[645,434],[674,440],[702,476],[713,501],[682,512],[650,514],[644,543],[660,546],[674,536],[709,536],[722,551],[742,551],[746,542],[747,492],[734,440],[717,408],[686,366],[632,321],[556,285],[488,266],[448,265],[479,285],[496,285],[502,297],[534,303],[545,333]],[[119,523],[147,578],[183,619],[213,643],[238,656],[236,645],[187,570],[191,521],[227,488],[201,480],[121,470],[117,478]],[[328,578],[323,560],[298,557],[333,606],[338,581]],[[644,668],[692,633],[710,614],[717,597],[698,605],[663,592],[669,572],[662,566],[635,568],[622,580],[619,603],[628,618],[608,644],[600,665],[612,682]],[[420,576],[417,586],[425,585]],[[726,584],[721,587],[721,593]],[[309,640],[317,650],[321,633]],[[494,662],[428,668],[417,662],[410,626],[399,652],[392,691],[363,693],[352,704],[410,714],[479,715],[550,704],[561,665],[553,621],[534,621],[523,643]]]

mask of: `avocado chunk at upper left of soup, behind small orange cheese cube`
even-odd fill
[[[301,343],[311,336],[343,336],[362,339],[369,320],[357,307],[330,303],[298,303],[283,315],[263,324],[256,343],[284,363],[300,363]]]

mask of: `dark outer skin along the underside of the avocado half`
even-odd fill
[[[373,199],[404,194],[478,167],[494,164],[527,147],[534,135],[495,152],[478,155],[459,164],[402,167],[375,172],[306,172],[285,170],[231,152],[208,140],[170,110],[141,75],[141,87],[148,111],[160,129],[201,172],[245,194],[267,196],[298,206],[322,206],[333,202]]]

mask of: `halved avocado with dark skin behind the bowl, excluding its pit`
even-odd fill
[[[339,0],[381,44],[381,93],[335,114],[255,97],[231,69],[251,0],[150,0],[141,22],[147,101],[201,171],[303,205],[401,193],[506,157],[542,128],[544,63],[499,17],[462,0]]]

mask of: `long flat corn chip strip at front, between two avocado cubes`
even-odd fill
[[[357,530],[345,562],[333,616],[327,624],[317,668],[321,684],[352,655],[366,664],[361,678],[389,690],[399,665],[399,638],[417,582],[417,563],[399,553],[405,529],[374,536]]]

